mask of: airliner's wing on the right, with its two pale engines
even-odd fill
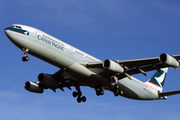
[[[91,71],[106,77],[110,77],[115,75],[118,79],[122,79],[124,77],[129,77],[131,79],[131,75],[142,73],[146,75],[146,72],[152,70],[160,71],[160,68],[165,67],[174,67],[177,68],[179,66],[179,59],[180,55],[168,55],[168,54],[161,54],[160,57],[153,57],[153,58],[144,58],[144,59],[132,59],[132,60],[109,60],[108,67],[105,67],[105,60],[104,62],[99,63],[81,63],[82,65],[86,66]],[[113,63],[113,64],[111,64]],[[114,67],[116,66],[116,67]],[[120,67],[123,71],[116,71],[115,69],[110,69],[114,67],[115,69],[119,69]]]

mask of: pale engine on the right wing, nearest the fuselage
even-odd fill
[[[118,73],[123,73],[124,72],[124,68],[121,67],[118,63],[112,61],[112,60],[108,60],[106,59],[104,62],[103,62],[103,67],[105,69],[108,69],[110,71],[113,71],[113,72],[118,72]]]

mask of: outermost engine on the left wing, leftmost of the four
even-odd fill
[[[44,89],[42,87],[40,87],[37,83],[35,82],[30,82],[27,81],[24,84],[24,88],[30,92],[34,92],[34,93],[43,93]]]

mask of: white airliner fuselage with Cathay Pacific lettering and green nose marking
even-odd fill
[[[14,25],[16,26],[16,25]],[[21,28],[8,27],[5,33],[8,38],[21,50],[29,49],[29,54],[44,60],[58,68],[61,68],[71,78],[82,84],[95,88],[102,85],[103,89],[109,90],[112,81],[87,69],[79,62],[101,62],[99,59],[74,48],[38,29],[19,25]],[[118,80],[120,95],[138,100],[160,99],[158,91],[147,84],[132,77],[132,80],[124,78]]]

